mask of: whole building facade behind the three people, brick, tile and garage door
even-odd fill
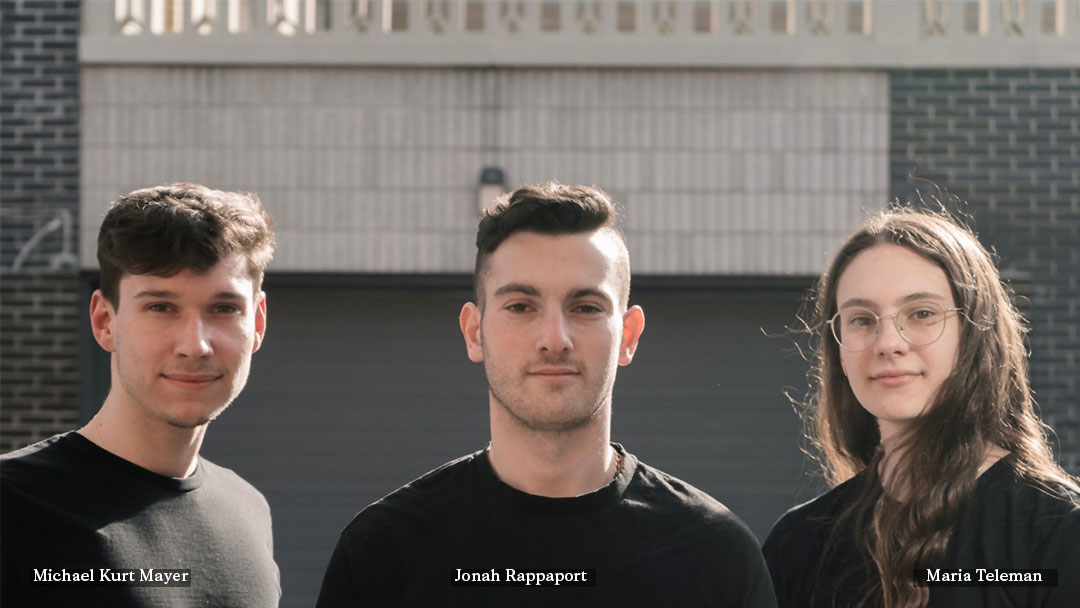
[[[821,488],[789,401],[801,298],[893,198],[936,195],[997,251],[1080,471],[1076,2],[0,5],[3,447],[108,390],[81,324],[109,201],[257,192],[268,339],[205,451],[270,500],[285,606],[355,511],[486,442],[456,317],[492,167],[621,202],[648,324],[615,436],[759,536]]]

